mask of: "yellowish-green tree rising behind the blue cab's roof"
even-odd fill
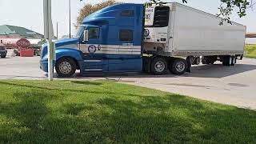
[[[85,6],[82,7],[82,9],[79,12],[77,22],[74,25],[76,28],[82,23],[82,20],[86,18],[89,14],[94,13],[95,11],[101,10],[102,8],[105,8],[107,6],[112,6],[114,4],[117,4],[115,0],[108,0],[106,2],[101,2],[96,5],[91,5],[91,4],[86,4]]]

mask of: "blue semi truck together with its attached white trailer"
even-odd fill
[[[206,21],[198,19],[202,16]],[[190,20],[188,17],[195,18]],[[182,22],[186,19],[190,22]],[[224,66],[233,66],[238,57],[242,58],[245,26],[234,23],[220,27],[219,21],[211,14],[176,2],[149,8],[128,3],[109,6],[86,17],[74,38],[55,42],[54,67],[59,76],[70,77],[76,70],[84,76],[90,73],[142,71],[166,74],[169,70],[173,74],[184,74],[200,59],[205,64],[219,60]],[[206,30],[206,26],[202,30],[195,28],[198,23],[215,31]],[[183,25],[188,26],[184,26],[185,29]],[[230,33],[230,29],[236,30],[237,38],[233,38],[233,34],[224,34]],[[218,39],[211,40],[211,47],[202,42],[209,41],[210,36],[218,33],[216,30],[222,31],[222,34]],[[202,34],[205,36],[202,37]],[[236,42],[226,42],[226,35]],[[231,50],[226,49],[229,47]],[[45,44],[40,61],[40,67],[45,72],[48,70],[47,58]]]

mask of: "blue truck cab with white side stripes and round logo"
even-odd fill
[[[143,11],[142,4],[118,4],[86,17],[74,38],[55,42],[58,75],[69,77],[77,69],[82,75],[142,71]],[[48,70],[47,61],[44,45],[44,71]]]

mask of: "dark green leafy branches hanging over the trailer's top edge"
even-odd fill
[[[189,0],[181,0],[183,3],[187,3]],[[220,25],[223,24],[223,22],[231,23],[230,21],[230,15],[234,11],[234,9],[238,10],[237,14],[240,18],[246,16],[246,10],[248,8],[252,8],[256,2],[254,0],[220,0],[222,2],[221,6],[219,6],[219,14],[217,14],[218,17],[222,17],[222,21],[220,22]],[[166,2],[162,2],[162,0],[150,0],[150,2],[146,2],[146,6],[151,6],[152,4],[157,5],[163,5],[166,4]]]

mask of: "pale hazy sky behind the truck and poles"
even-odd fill
[[[71,0],[72,7],[72,23],[75,22],[78,16],[78,11],[86,3],[98,3],[104,0]],[[147,0],[119,0],[121,2],[136,2],[143,3]],[[218,6],[220,0],[188,0],[187,6],[192,6],[196,9],[206,11],[210,14],[218,13]],[[174,0],[166,2],[182,2],[182,0]],[[68,17],[68,0],[52,0],[52,17],[54,30],[56,29],[56,22],[59,22],[59,35],[69,33],[69,17]],[[232,21],[241,23],[247,26],[248,32],[256,32],[256,6],[255,10],[248,10],[248,15],[245,18],[238,18],[236,14],[232,15]],[[42,0],[0,0],[0,25],[14,25],[23,26],[32,29],[39,33],[43,33],[43,14],[42,14]],[[73,25],[72,25],[73,26]],[[56,34],[56,32],[54,33]],[[72,34],[75,34],[74,26]],[[256,39],[250,39],[248,42],[256,43]]]

